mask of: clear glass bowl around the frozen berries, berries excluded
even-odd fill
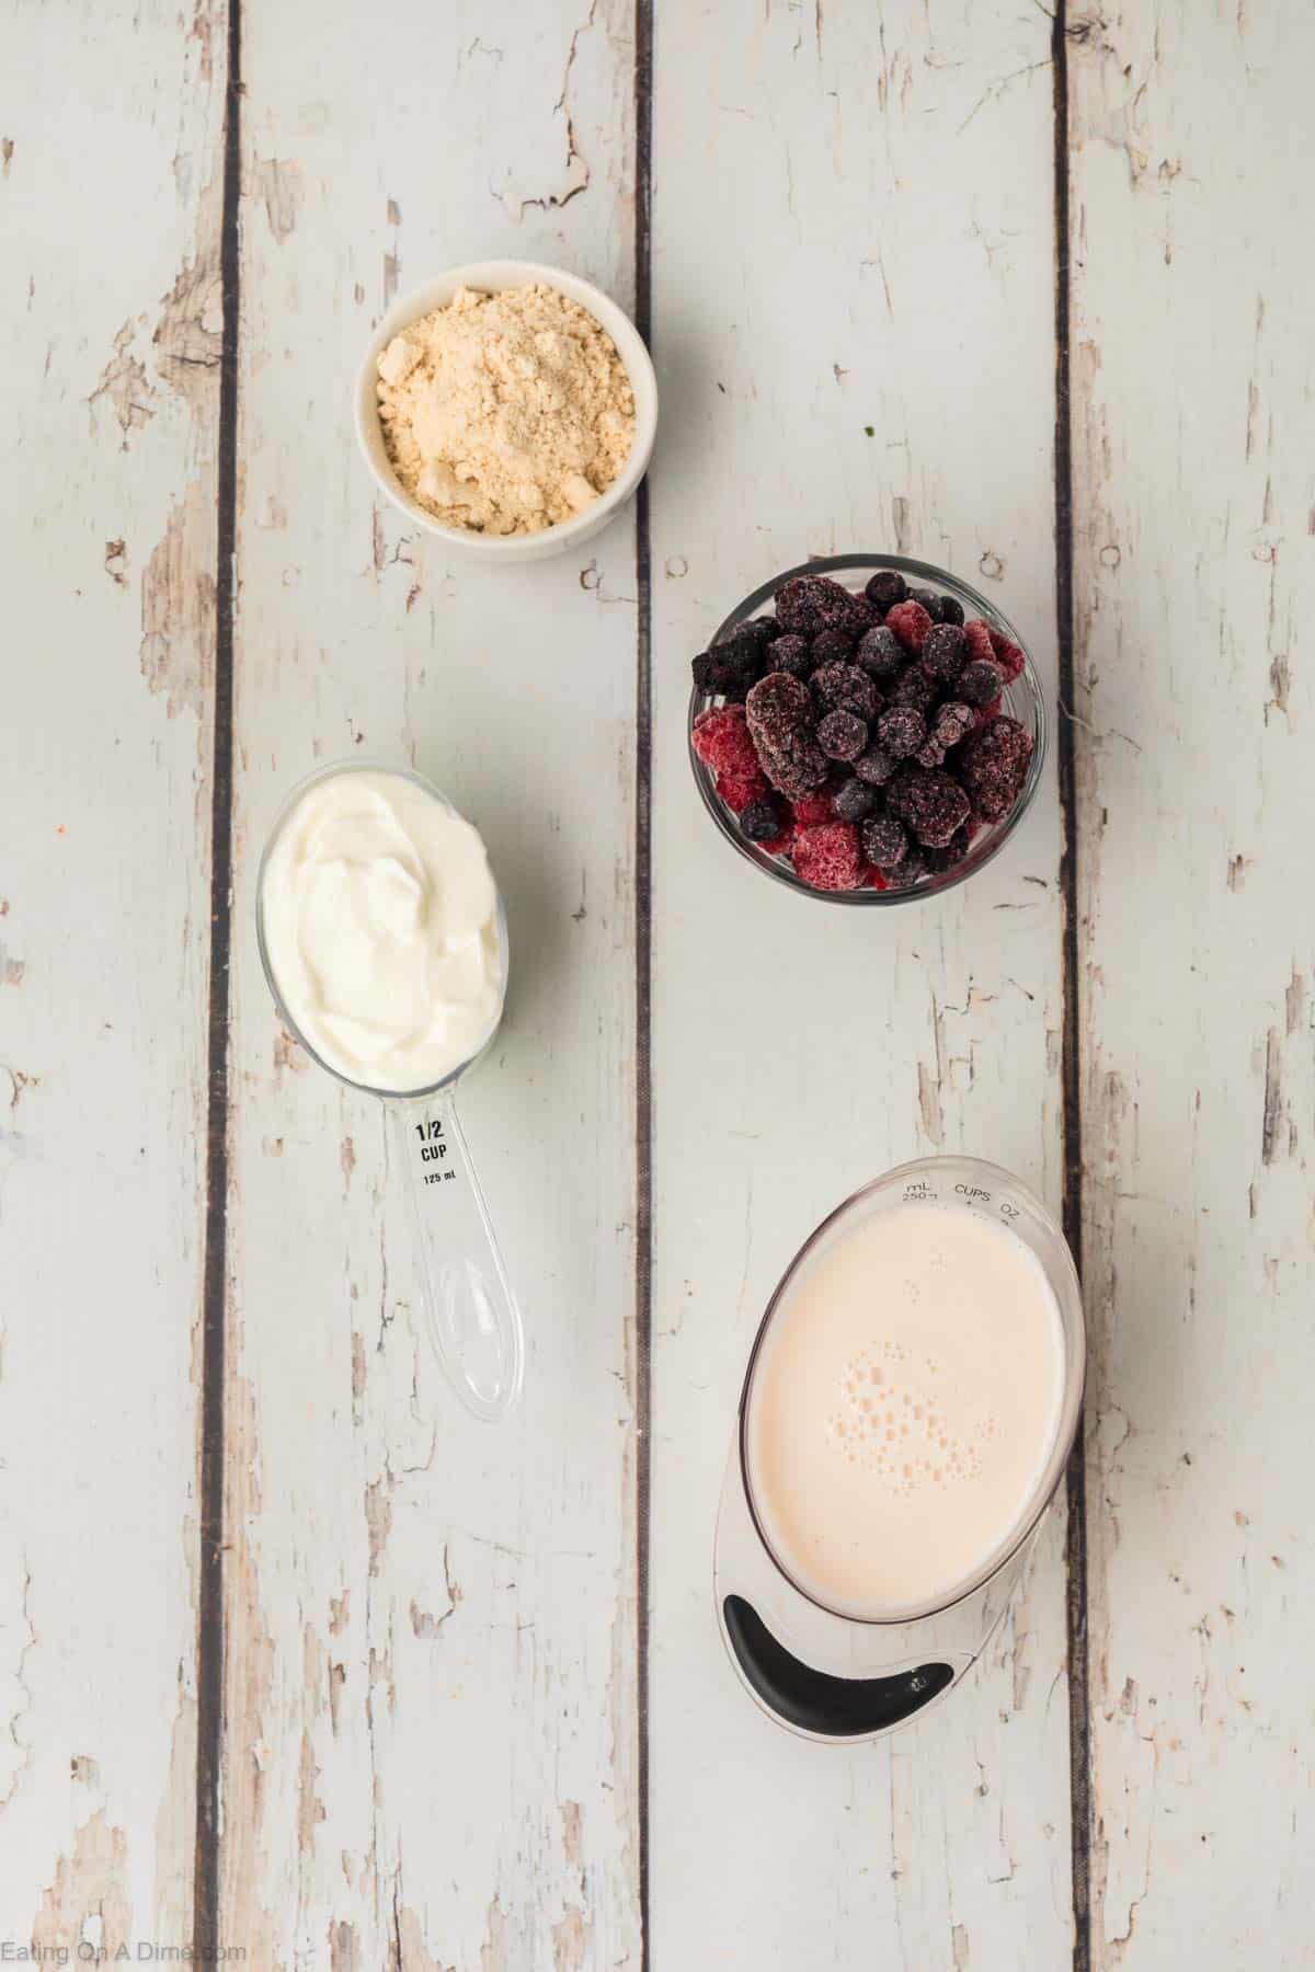
[[[767,609],[781,588],[791,576],[830,576],[834,582],[842,582],[848,590],[862,592],[867,578],[879,568],[897,568],[901,576],[911,578],[917,588],[940,590],[962,603],[966,617],[986,617],[992,629],[1002,631],[1009,643],[1015,643],[1023,653],[1023,669],[1005,684],[1002,692],[1002,710],[1015,718],[1031,734],[1031,759],[1027,763],[1027,779],[1023,789],[1009,809],[1009,812],[1000,822],[984,822],[978,834],[972,838],[972,846],[960,864],[952,870],[942,870],[934,876],[925,876],[921,881],[911,883],[907,889],[812,889],[804,883],[795,868],[785,860],[785,856],[769,856],[757,842],[749,842],[747,836],[739,832],[737,818],[724,805],[716,789],[716,779],[712,771],[694,751],[694,720],[700,712],[708,712],[718,700],[708,692],[700,692],[698,686],[690,692],[690,720],[688,720],[688,749],[690,767],[694,769],[694,785],[704,799],[708,814],[718,824],[722,836],[729,846],[743,856],[745,862],[761,870],[763,876],[773,878],[773,881],[783,883],[787,889],[798,891],[800,897],[816,897],[822,903],[842,903],[850,909],[889,909],[897,903],[919,903],[923,897],[938,897],[946,889],[954,889],[964,883],[970,876],[976,876],[992,856],[1004,848],[1017,824],[1027,814],[1033,803],[1037,787],[1041,785],[1041,769],[1045,765],[1045,743],[1047,743],[1047,718],[1045,718],[1045,698],[1041,692],[1041,680],[1037,676],[1037,667],[1031,661],[1031,653],[1023,639],[1019,637],[1007,615],[980,596],[978,590],[968,588],[958,576],[950,576],[944,568],[936,568],[933,562],[915,562],[907,554],[830,554],[818,556],[812,562],[800,562],[798,568],[783,568],[779,576],[771,582],[763,582],[761,588],[745,596],[741,603],[735,603],[731,613],[720,625],[712,643],[726,637],[737,623],[747,623],[749,617],[759,615]]]

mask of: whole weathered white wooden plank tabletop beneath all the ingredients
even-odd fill
[[[4,8],[6,1960],[1315,1962],[1315,16],[1059,4]],[[349,428],[495,254],[662,388],[639,509],[505,576]],[[688,773],[688,657],[852,546],[1059,704],[934,907],[775,893]],[[266,824],[357,747],[509,897],[501,1436],[260,978]],[[1080,1242],[1084,1457],[990,1660],[832,1753],[722,1658],[716,1491],[781,1266],[940,1148]]]

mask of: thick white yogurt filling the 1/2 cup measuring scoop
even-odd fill
[[[483,840],[406,775],[345,769],[308,787],[260,913],[294,1025],[353,1083],[430,1089],[499,1023],[507,956]]]

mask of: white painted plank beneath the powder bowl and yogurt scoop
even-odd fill
[[[631,63],[619,6],[246,16],[223,1869],[270,1966],[637,1962],[633,521],[473,568],[373,499],[349,422],[382,304],[444,266],[629,300]],[[465,1104],[528,1327],[501,1432],[428,1355],[379,1106],[258,970],[262,832],[357,749],[432,773],[507,893]]]

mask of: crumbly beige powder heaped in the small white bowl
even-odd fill
[[[444,527],[538,534],[605,493],[635,444],[617,345],[556,288],[457,288],[379,357],[400,485]]]

